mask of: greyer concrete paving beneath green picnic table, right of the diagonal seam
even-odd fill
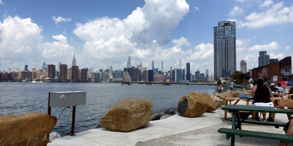
[[[221,109],[218,109],[218,111],[223,118],[224,111]],[[227,117],[230,119],[230,114]],[[230,146],[231,139],[226,140],[225,134],[217,132],[222,127],[231,128],[229,120],[226,121],[223,118],[223,121],[224,123],[222,124],[142,142],[138,146]],[[286,123],[288,122],[287,115],[276,114],[275,121]],[[242,124],[242,129],[285,134],[283,127],[274,128],[274,126],[267,125]],[[277,146],[278,144],[279,142],[275,140],[235,136],[235,146]],[[288,146],[293,146],[293,143],[290,143]]]

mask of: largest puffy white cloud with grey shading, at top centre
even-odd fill
[[[189,5],[185,0],[145,2],[143,7],[137,7],[123,20],[102,17],[77,23],[73,33],[85,42],[83,55],[88,60],[118,64],[125,62],[129,55],[133,55],[133,62],[142,59],[149,62],[155,52],[164,52],[161,45],[168,42],[166,37],[184,19]],[[183,37],[174,42],[177,46],[171,49],[172,52],[179,51],[181,45],[190,44]]]

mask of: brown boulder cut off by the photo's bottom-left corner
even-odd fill
[[[0,116],[0,145],[46,146],[56,120],[43,113]]]

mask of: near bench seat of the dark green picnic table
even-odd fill
[[[255,137],[255,138],[264,138],[264,139],[272,139],[272,140],[278,140],[278,141],[293,142],[293,136],[286,135],[286,134],[249,131],[249,130],[238,130],[238,129],[230,129],[230,128],[220,128],[220,129],[218,129],[218,132],[226,134],[227,139],[229,139],[231,135],[240,135],[240,136],[247,136],[247,137]]]

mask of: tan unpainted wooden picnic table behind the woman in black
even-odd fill
[[[246,101],[246,105],[249,105],[249,102],[252,102],[253,99],[248,99],[248,98],[239,98],[239,97],[224,97],[223,98],[224,101],[225,101],[225,105],[228,105],[228,102],[229,104],[232,104],[232,101],[235,101],[233,103],[233,105],[236,105],[238,104],[239,101]],[[271,101],[274,103],[275,101],[279,101],[280,99],[282,99],[281,97],[273,97],[273,98],[270,98]],[[225,110],[225,113],[224,113],[224,119],[227,120],[227,110]]]

